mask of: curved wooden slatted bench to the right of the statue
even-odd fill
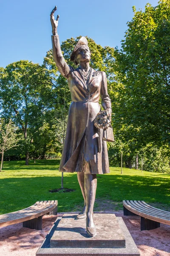
[[[155,208],[144,201],[123,201],[124,215],[139,215],[141,231],[160,227],[160,223],[170,225],[170,212]]]

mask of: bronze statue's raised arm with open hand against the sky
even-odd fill
[[[68,78],[70,74],[70,68],[68,64],[65,62],[65,59],[62,55],[61,47],[59,44],[59,36],[57,33],[59,15],[57,15],[57,19],[54,18],[54,12],[57,10],[57,6],[54,7],[50,14],[51,26],[52,26],[52,46],[53,46],[53,59],[58,67],[59,72],[65,78]]]

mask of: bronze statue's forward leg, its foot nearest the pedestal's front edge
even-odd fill
[[[86,198],[86,232],[88,236],[96,235],[96,228],[93,220],[93,208],[96,197],[97,175],[85,173],[85,198]]]

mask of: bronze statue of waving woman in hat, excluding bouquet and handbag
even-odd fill
[[[77,219],[86,218],[86,232],[92,237],[96,235],[93,220],[96,175],[109,173],[107,143],[103,140],[103,130],[94,125],[94,119],[100,111],[100,95],[102,107],[110,117],[111,100],[105,72],[89,65],[91,52],[85,37],[79,39],[71,53],[71,61],[79,67],[74,69],[65,62],[57,34],[59,15],[57,20],[54,18],[56,10],[55,6],[51,12],[53,58],[61,75],[68,80],[72,99],[59,171],[77,172],[84,198],[84,207]]]

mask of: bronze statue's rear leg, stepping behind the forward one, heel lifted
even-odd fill
[[[82,190],[82,196],[84,198],[84,207],[82,211],[77,215],[77,219],[86,218],[86,200],[85,200],[85,173],[84,172],[77,172],[77,179],[79,181],[79,186]]]

